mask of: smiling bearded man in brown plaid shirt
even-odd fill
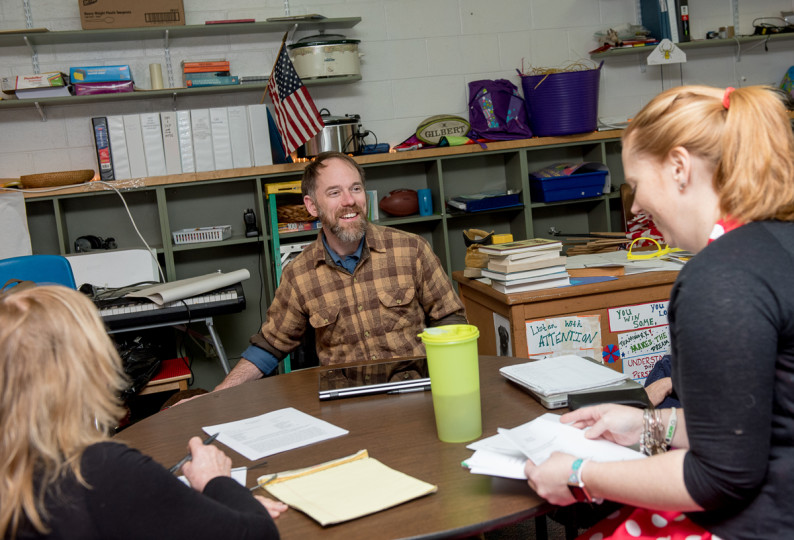
[[[367,221],[364,170],[353,158],[321,153],[301,190],[322,229],[284,269],[267,320],[215,390],[273,373],[309,325],[320,364],[331,365],[422,356],[423,328],[466,324],[427,241]]]

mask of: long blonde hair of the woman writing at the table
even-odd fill
[[[86,296],[61,286],[0,294],[0,537],[26,521],[48,531],[46,491],[69,474],[85,484],[83,451],[118,425],[126,385]]]

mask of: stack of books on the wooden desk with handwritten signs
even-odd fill
[[[482,246],[480,253],[488,255],[482,276],[504,294],[564,287],[570,280],[561,251],[561,242],[545,238]]]

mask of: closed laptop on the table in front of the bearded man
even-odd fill
[[[321,400],[430,390],[425,358],[324,368],[318,379]]]

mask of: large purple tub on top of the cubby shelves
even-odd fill
[[[586,71],[521,77],[533,135],[549,137],[595,131],[601,65]]]

